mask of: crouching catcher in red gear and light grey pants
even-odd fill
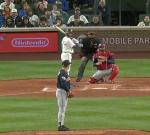
[[[105,76],[110,76],[108,82],[115,83],[114,78],[119,73],[119,67],[115,64],[114,53],[105,51],[106,46],[100,44],[98,52],[93,55],[93,66],[97,67],[97,72],[90,77],[90,83],[104,82]]]

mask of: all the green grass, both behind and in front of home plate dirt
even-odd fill
[[[76,77],[80,61],[73,61]],[[118,77],[150,77],[150,60],[116,60]],[[91,76],[91,62],[85,77]],[[61,61],[0,62],[0,80],[55,78]],[[96,69],[94,69],[96,71]],[[57,130],[57,102],[48,98],[0,98],[0,132]],[[150,131],[150,97],[71,99],[66,124],[72,129]]]

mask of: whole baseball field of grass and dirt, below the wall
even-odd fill
[[[60,54],[47,60],[40,55],[1,55],[0,135],[150,135],[149,59],[118,57],[115,84],[89,84],[96,71],[90,61],[84,78],[75,82],[80,60],[74,59],[70,75],[75,97],[69,99],[65,117],[72,131],[58,132],[55,91]]]

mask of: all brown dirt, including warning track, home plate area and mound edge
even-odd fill
[[[120,52],[115,53],[119,59],[148,59],[149,52]],[[73,55],[79,59],[79,53]],[[60,60],[59,53],[5,53],[0,54],[0,61],[27,60]],[[76,83],[75,79],[71,79]],[[9,85],[8,85],[9,84]],[[44,88],[46,91],[43,91]],[[0,81],[0,97],[41,97],[55,98],[56,80],[35,79]],[[75,98],[110,98],[110,97],[141,97],[150,96],[150,78],[117,78],[115,84],[89,84],[88,78],[82,79],[73,87]],[[86,92],[85,92],[86,91]],[[135,130],[81,130],[81,131],[33,131],[10,132],[1,135],[150,135],[149,132]]]

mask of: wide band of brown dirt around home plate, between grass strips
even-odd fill
[[[150,96],[150,78],[116,78],[115,84],[90,84],[88,78],[76,82],[71,78],[74,98]],[[8,85],[9,84],[9,85]],[[0,82],[0,97],[56,98],[56,79],[14,80]]]

